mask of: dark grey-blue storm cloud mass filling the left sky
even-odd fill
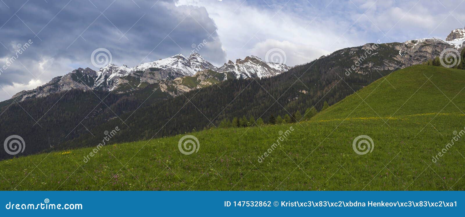
[[[100,47],[111,52],[114,64],[131,67],[188,55],[193,44],[205,40],[200,54],[216,64],[226,60],[217,27],[203,7],[176,7],[173,0],[3,1],[0,68],[16,56],[18,44],[33,43],[2,70],[0,85],[45,82],[77,67],[98,69],[90,56]]]

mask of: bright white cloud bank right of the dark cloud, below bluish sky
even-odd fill
[[[351,43],[340,37],[343,22],[321,19],[316,15],[313,15],[314,19],[307,19],[288,13],[286,7],[279,10],[282,5],[271,9],[267,5],[257,7],[243,1],[178,1],[178,5],[183,4],[206,7],[218,26],[219,38],[229,60],[243,59],[248,55],[265,59],[266,51],[278,47],[288,55],[287,65],[294,66],[339,48],[364,44],[357,37],[346,36],[351,38]],[[288,6],[293,7],[291,5]],[[311,8],[311,5],[306,7]]]

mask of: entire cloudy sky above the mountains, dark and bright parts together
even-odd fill
[[[0,68],[17,59],[0,71],[0,101],[75,68],[98,70],[98,48],[129,67],[200,44],[217,66],[280,48],[293,66],[378,40],[445,39],[465,27],[464,1],[1,0]]]

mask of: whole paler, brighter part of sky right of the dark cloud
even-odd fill
[[[445,39],[452,29],[464,26],[465,15],[459,12],[465,4],[462,0],[441,2],[352,0],[312,1],[310,5],[305,0],[178,0],[177,4],[206,8],[218,26],[227,59],[247,55],[263,59],[273,43],[288,49],[287,60],[292,65],[378,40]]]

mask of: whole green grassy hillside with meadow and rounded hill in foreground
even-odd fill
[[[308,122],[109,145],[87,163],[92,148],[4,160],[0,190],[465,190],[465,138],[432,162],[464,129],[464,87],[463,70],[414,66]],[[178,149],[187,134],[200,143],[192,155]],[[355,153],[360,135],[372,152]]]

